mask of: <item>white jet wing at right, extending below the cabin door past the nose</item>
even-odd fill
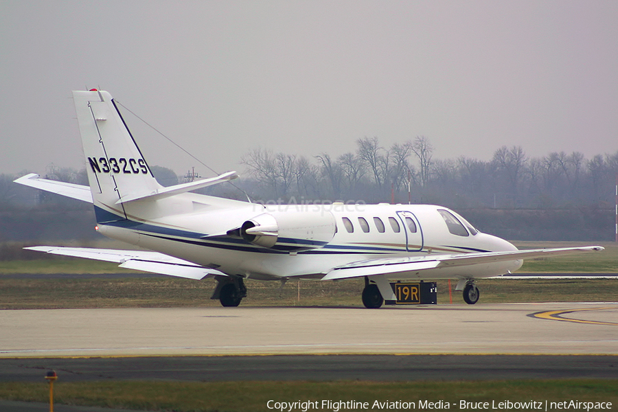
[[[547,256],[568,255],[587,251],[602,251],[604,247],[562,247],[557,249],[532,249],[524,251],[507,252],[480,252],[459,253],[455,255],[425,255],[407,256],[401,258],[382,258],[352,262],[342,266],[336,266],[322,278],[322,280],[348,279],[350,277],[372,275],[396,275],[398,273],[410,273],[426,271],[428,269],[446,268],[453,266],[468,266],[507,260],[520,260],[529,258],[544,258]]]

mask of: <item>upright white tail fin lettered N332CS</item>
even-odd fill
[[[121,199],[161,190],[106,91],[73,91],[98,222],[126,219]]]

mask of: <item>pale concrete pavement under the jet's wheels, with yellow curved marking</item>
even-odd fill
[[[618,354],[618,303],[0,311],[0,357]]]

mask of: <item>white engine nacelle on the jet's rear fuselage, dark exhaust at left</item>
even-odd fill
[[[321,248],[334,233],[335,220],[330,211],[264,213],[240,227],[240,236],[247,242],[281,251]]]

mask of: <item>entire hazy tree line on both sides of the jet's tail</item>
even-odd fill
[[[312,203],[434,203],[460,211],[482,231],[512,240],[613,240],[618,151],[586,159],[580,152],[528,156],[502,146],[492,159],[436,159],[426,137],[385,148],[377,137],[356,149],[314,157],[264,148],[242,156],[246,168],[232,184],[200,192],[238,200]],[[193,179],[153,165],[169,186]],[[0,242],[97,238],[91,205],[13,183],[0,174]],[[86,170],[50,165],[43,177],[87,185]],[[84,231],[71,222],[80,220]]]

